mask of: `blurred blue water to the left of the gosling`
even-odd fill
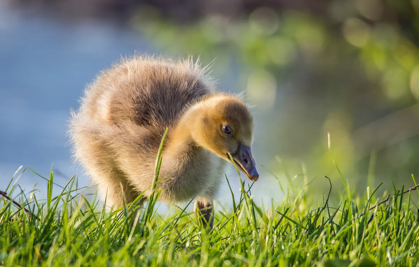
[[[120,56],[154,53],[138,33],[95,21],[65,23],[0,9],[0,190],[19,166],[65,185],[78,169],[66,145],[70,107],[86,83]],[[58,172],[57,172],[58,173]],[[42,179],[25,173],[26,190]]]

